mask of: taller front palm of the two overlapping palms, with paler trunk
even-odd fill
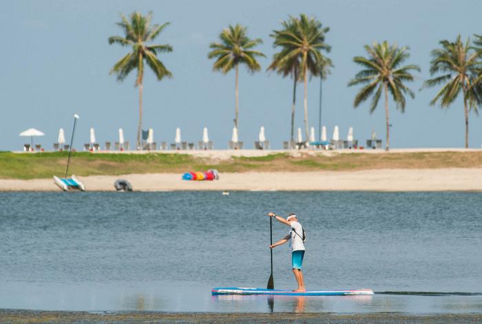
[[[315,18],[308,18],[300,14],[300,18],[290,17],[289,22],[283,24],[283,30],[275,30],[275,46],[282,47],[278,57],[275,57],[277,66],[282,70],[294,62],[299,62],[297,67],[297,80],[304,81],[304,128],[306,139],[309,137],[308,129],[308,73],[319,76],[322,73],[324,56],[322,50],[330,52],[331,47],[325,41],[325,34],[330,28],[322,27],[322,23]],[[274,63],[274,62],[273,62]]]

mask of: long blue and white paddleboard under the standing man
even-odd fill
[[[264,289],[264,288],[240,288],[240,287],[223,287],[213,288],[211,294],[268,294],[268,295],[284,295],[284,296],[351,296],[361,294],[373,294],[371,289],[356,290],[306,290],[306,292],[293,292],[291,290]]]

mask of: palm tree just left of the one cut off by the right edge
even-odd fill
[[[442,108],[448,108],[462,93],[465,148],[467,149],[469,147],[469,112],[474,110],[477,113],[477,102],[480,101],[478,93],[480,86],[474,85],[481,68],[480,53],[470,47],[470,39],[463,43],[460,35],[454,42],[443,40],[439,45],[441,45],[440,48],[432,50],[430,75],[443,75],[426,80],[423,87],[434,87],[445,83],[430,101],[430,105],[440,101]]]

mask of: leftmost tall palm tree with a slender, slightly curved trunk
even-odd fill
[[[143,16],[139,12],[132,12],[129,19],[121,14],[121,22],[117,25],[123,30],[125,36],[109,37],[109,44],[117,43],[122,46],[129,46],[132,51],[121,58],[110,70],[110,74],[115,73],[117,80],[124,80],[129,73],[136,69],[137,77],[134,87],[139,87],[139,122],[137,127],[137,149],[140,149],[140,130],[143,125],[143,78],[144,62],[149,65],[158,80],[163,80],[166,76],[172,77],[171,72],[159,61],[157,54],[172,52],[171,45],[147,44],[154,41],[160,32],[169,25],[151,25],[152,12]]]

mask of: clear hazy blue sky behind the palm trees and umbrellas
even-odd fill
[[[371,132],[385,138],[385,111],[381,100],[373,114],[370,102],[357,109],[353,99],[359,87],[347,87],[359,71],[353,56],[364,55],[364,45],[373,41],[408,45],[407,64],[417,64],[415,91],[401,114],[390,100],[390,146],[463,147],[464,119],[461,96],[449,109],[430,106],[437,88],[421,89],[430,78],[430,51],[439,41],[453,41],[482,34],[479,0],[244,0],[234,1],[46,1],[6,0],[0,11],[0,150],[19,150],[30,139],[19,133],[30,127],[45,133],[35,142],[52,149],[59,128],[70,138],[73,115],[79,114],[74,147],[89,142],[94,127],[101,146],[118,141],[118,128],[135,142],[138,122],[138,89],[135,73],[122,83],[109,71],[129,50],[109,45],[109,36],[122,35],[116,25],[120,14],[134,10],[153,12],[154,23],[170,22],[156,43],[174,51],[159,58],[174,75],[156,80],[145,72],[143,128],[154,129],[156,142],[174,142],[176,127],[182,140],[198,142],[208,127],[216,149],[227,148],[234,118],[234,72],[213,72],[207,58],[209,43],[229,24],[247,26],[251,38],[261,38],[258,50],[262,71],[249,74],[240,69],[240,140],[252,148],[261,126],[274,149],[289,140],[293,83],[266,73],[275,49],[272,30],[289,15],[316,17],[330,31],[326,43],[335,67],[323,83],[322,124],[339,126],[346,138],[348,127],[363,144]],[[297,87],[295,127],[303,123],[303,87]],[[308,121],[318,126],[319,78],[308,83]],[[482,120],[470,114],[470,147],[481,148]],[[317,131],[319,131],[317,129]],[[384,140],[385,142],[385,140]]]

